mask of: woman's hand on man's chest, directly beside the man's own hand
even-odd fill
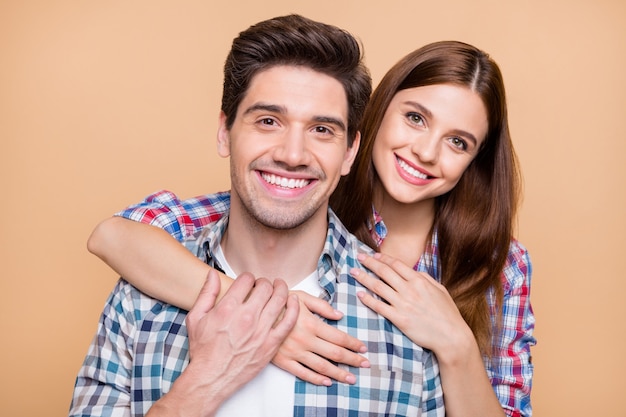
[[[335,363],[355,367],[369,367],[369,362],[355,352],[365,353],[360,340],[349,336],[320,320],[313,313],[329,320],[339,320],[342,313],[326,301],[302,291],[295,291],[300,299],[298,321],[281,345],[272,363],[285,371],[316,385],[330,386],[331,379],[354,384],[354,374]]]

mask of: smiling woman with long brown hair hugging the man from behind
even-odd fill
[[[448,416],[530,415],[530,260],[512,238],[519,174],[498,66],[464,43],[427,45],[385,75],[364,121],[357,161],[331,198],[346,226],[381,252],[361,259],[380,280],[352,273],[386,303],[365,295],[363,303],[435,353]],[[190,231],[211,212],[195,202]],[[164,233],[114,218],[89,249],[143,291],[189,308],[208,266],[172,239],[152,259],[153,235]],[[300,320],[274,363],[314,383],[352,382],[320,356],[358,366],[350,352],[358,341],[313,322]]]

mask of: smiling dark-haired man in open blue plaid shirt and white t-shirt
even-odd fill
[[[300,16],[270,19],[234,40],[224,74],[218,153],[230,157],[232,189],[208,197],[219,220],[186,245],[231,277],[280,276],[291,289],[323,294],[345,311],[336,327],[367,345],[370,367],[354,370],[355,385],[316,386],[266,366],[297,312],[280,280],[253,287],[244,274],[211,309],[219,289],[210,276],[187,326],[183,310],[121,281],[70,415],[444,415],[433,355],[358,302],[365,289],[349,270],[367,248],[328,207],[358,150],[371,92],[358,43]],[[268,326],[282,305],[284,318]],[[233,349],[220,349],[225,340]]]

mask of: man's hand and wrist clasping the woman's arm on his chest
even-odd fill
[[[219,290],[212,270],[186,319],[189,366],[150,416],[183,410],[186,415],[213,415],[267,366],[296,323],[298,298],[289,295],[282,280],[272,284],[244,273],[215,305]]]

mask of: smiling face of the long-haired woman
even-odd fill
[[[372,154],[386,194],[411,204],[447,193],[478,153],[487,129],[485,106],[466,87],[436,84],[399,91]]]

